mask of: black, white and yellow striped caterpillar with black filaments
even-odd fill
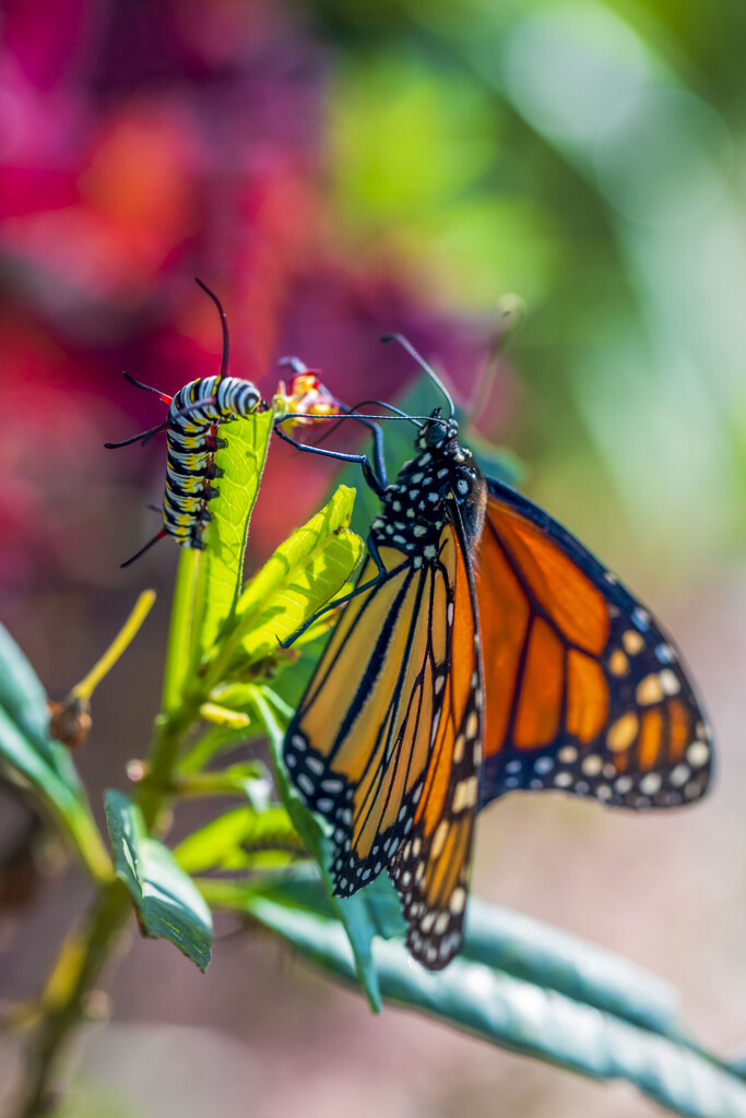
[[[218,427],[242,416],[266,409],[258,388],[251,380],[226,375],[229,350],[226,314],[217,295],[201,280],[197,280],[196,283],[209,295],[220,314],[223,357],[217,377],[190,380],[176,396],[169,396],[157,388],[141,385],[125,372],[125,379],[135,388],[154,392],[168,404],[169,414],[163,423],[151,427],[150,430],[121,443],[104,444],[108,449],[114,449],[130,446],[132,443],[145,443],[161,430],[167,433],[168,464],[161,509],[163,527],[144,548],[123,562],[122,567],[129,567],[164,536],[172,536],[185,547],[204,547],[202,532],[211,519],[208,504],[218,493],[217,487],[213,485],[213,481],[219,476],[215,465],[215,452],[223,445],[218,438]]]

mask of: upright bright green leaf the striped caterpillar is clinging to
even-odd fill
[[[226,446],[215,455],[223,476],[210,501],[202,647],[209,648],[233,613],[243,581],[248,522],[259,490],[272,434],[273,413],[263,411],[220,427]]]

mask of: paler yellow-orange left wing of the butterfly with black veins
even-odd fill
[[[285,739],[308,805],[332,824],[336,892],[372,881],[412,831],[450,671],[453,579],[383,548],[387,575],[347,606]],[[369,562],[360,586],[375,578]]]

